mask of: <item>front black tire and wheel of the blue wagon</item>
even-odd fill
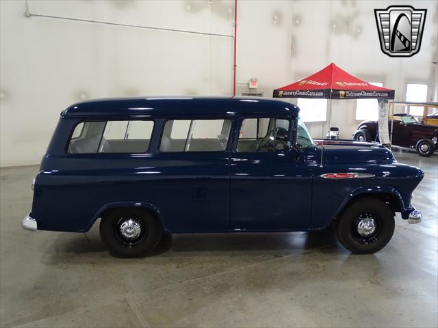
[[[374,232],[366,229],[363,231],[364,222],[369,222],[370,219],[374,220]],[[337,238],[353,254],[373,254],[380,251],[391,240],[395,228],[391,208],[372,197],[361,198],[348,206],[336,223]],[[363,233],[369,235],[361,234],[361,228]]]

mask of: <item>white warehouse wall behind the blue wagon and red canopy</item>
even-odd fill
[[[234,1],[29,1],[34,14],[233,33]],[[374,8],[394,1],[238,1],[237,82],[259,90],[320,70],[331,61],[362,79],[383,81],[403,100],[406,83],[428,83],[437,99],[437,1],[427,8],[422,49],[411,58],[381,53]],[[25,2],[0,1],[0,165],[38,163],[60,111],[81,98],[227,95],[231,38],[25,18]],[[273,17],[278,19],[274,21]],[[334,28],[333,25],[336,25]],[[359,32],[358,32],[359,29]],[[237,92],[246,91],[238,85]],[[355,130],[355,100],[333,101],[341,137]],[[320,137],[321,123],[310,123]]]

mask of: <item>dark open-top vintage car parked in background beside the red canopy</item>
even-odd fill
[[[430,119],[433,119],[431,116]],[[389,120],[392,131],[391,143],[395,146],[415,148],[421,156],[432,155],[438,147],[438,126],[419,122],[415,116],[394,114],[394,123]],[[353,133],[357,141],[379,141],[378,122],[363,121]]]

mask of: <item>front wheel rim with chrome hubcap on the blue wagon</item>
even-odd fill
[[[381,223],[376,215],[366,212],[358,215],[352,222],[352,236],[362,245],[372,244],[378,239]]]

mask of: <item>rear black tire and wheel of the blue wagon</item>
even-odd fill
[[[110,210],[103,215],[99,231],[110,252],[123,258],[151,253],[162,238],[158,220],[140,208]],[[128,232],[132,234],[127,236]]]

